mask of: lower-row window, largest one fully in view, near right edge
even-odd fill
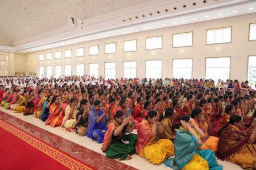
[[[218,79],[226,81],[229,79],[230,57],[212,57],[206,58],[205,79]]]

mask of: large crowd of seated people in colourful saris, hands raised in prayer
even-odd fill
[[[103,143],[110,158],[223,169],[217,156],[256,168],[256,92],[247,81],[6,76],[0,103]]]

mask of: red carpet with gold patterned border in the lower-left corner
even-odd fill
[[[96,169],[0,119],[0,169]]]

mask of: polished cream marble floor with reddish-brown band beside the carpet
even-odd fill
[[[100,149],[102,144],[92,141],[88,137],[81,137],[72,132],[65,132],[60,127],[52,128],[46,126],[45,122],[33,116],[23,116],[22,113],[13,113],[0,107],[0,119],[13,124],[14,126],[22,129],[23,131],[36,136],[37,138],[45,141],[46,143],[61,149],[62,151],[71,154],[81,161],[90,164],[98,169],[171,169],[165,167],[164,164],[155,165],[151,164],[147,159],[133,154],[133,159],[129,161],[117,161],[105,157],[105,153]],[[7,114],[6,114],[7,113]],[[136,132],[134,132],[136,133]],[[236,164],[220,161],[219,164],[224,166],[224,169],[239,170],[241,169]]]

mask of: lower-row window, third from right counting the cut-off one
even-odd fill
[[[172,60],[173,78],[192,78],[192,59],[173,59]]]

